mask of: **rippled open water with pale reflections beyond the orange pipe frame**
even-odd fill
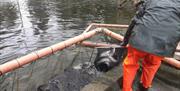
[[[116,0],[0,0],[0,60],[80,34],[89,23],[125,23]]]

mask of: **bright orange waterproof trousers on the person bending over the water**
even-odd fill
[[[123,91],[133,91],[132,83],[135,78],[136,72],[139,69],[138,61],[142,61],[142,75],[141,81],[143,87],[149,88],[155,73],[161,65],[163,57],[149,54],[128,46],[128,54],[123,63]]]

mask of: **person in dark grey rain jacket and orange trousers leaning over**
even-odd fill
[[[143,59],[140,83],[146,91],[161,60],[173,56],[180,41],[180,0],[145,0],[143,16],[135,21],[123,63],[123,91],[132,91],[139,59]]]

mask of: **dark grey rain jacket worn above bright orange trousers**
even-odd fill
[[[129,39],[139,50],[172,57],[180,41],[180,0],[146,0]]]

